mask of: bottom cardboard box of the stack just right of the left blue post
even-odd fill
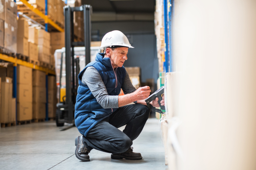
[[[32,102],[17,103],[17,121],[32,119]]]

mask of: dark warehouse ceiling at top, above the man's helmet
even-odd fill
[[[92,22],[153,21],[155,0],[82,0],[93,7]]]

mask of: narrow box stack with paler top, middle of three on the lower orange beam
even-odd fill
[[[29,58],[38,60],[38,29],[29,27]]]

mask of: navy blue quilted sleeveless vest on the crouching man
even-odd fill
[[[83,71],[78,75],[79,87],[77,89],[76,105],[75,105],[75,124],[79,132],[84,136],[93,128],[98,122],[102,121],[117,108],[104,109],[97,102],[96,98],[91,93],[87,85],[81,82],[84,71],[87,67],[93,66],[99,72],[102,80],[108,91],[108,95],[118,96],[122,82],[125,79],[125,68],[116,68],[116,74],[111,65],[110,58],[103,58],[103,53],[96,55],[96,61],[90,62],[86,65]]]

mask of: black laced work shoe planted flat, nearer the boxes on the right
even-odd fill
[[[123,153],[112,153],[111,159],[129,159],[129,160],[140,160],[142,159],[142,156],[140,153],[135,153],[132,151],[133,147],[130,147],[128,150],[126,150]]]

